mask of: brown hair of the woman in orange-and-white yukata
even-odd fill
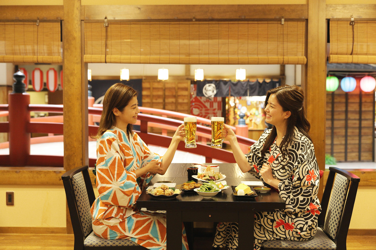
[[[137,96],[137,91],[122,83],[115,83],[106,91],[103,99],[103,111],[100,117],[98,133],[94,138],[100,138],[106,130],[116,125],[116,118],[112,110],[118,108],[120,112],[123,112],[124,107],[129,104],[134,96]],[[127,134],[132,134],[132,130],[133,125],[128,124]]]

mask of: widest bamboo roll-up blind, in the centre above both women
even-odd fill
[[[305,21],[86,22],[84,62],[305,64]]]

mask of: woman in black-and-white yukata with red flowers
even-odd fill
[[[310,125],[303,101],[303,90],[298,86],[283,85],[269,90],[265,122],[274,126],[263,132],[245,157],[234,131],[228,125],[223,130],[241,171],[252,171],[277,189],[286,202],[282,210],[255,213],[255,250],[260,250],[265,240],[305,241],[316,234],[321,211],[317,198],[319,167],[308,134]],[[237,223],[219,223],[213,248],[236,249],[237,232]]]

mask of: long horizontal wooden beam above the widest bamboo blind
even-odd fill
[[[265,20],[307,19],[306,4],[245,5],[85,5],[86,20]]]

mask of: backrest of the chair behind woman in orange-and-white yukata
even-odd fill
[[[67,195],[74,238],[85,239],[92,231],[91,205],[95,200],[88,166],[67,171],[61,176]]]

